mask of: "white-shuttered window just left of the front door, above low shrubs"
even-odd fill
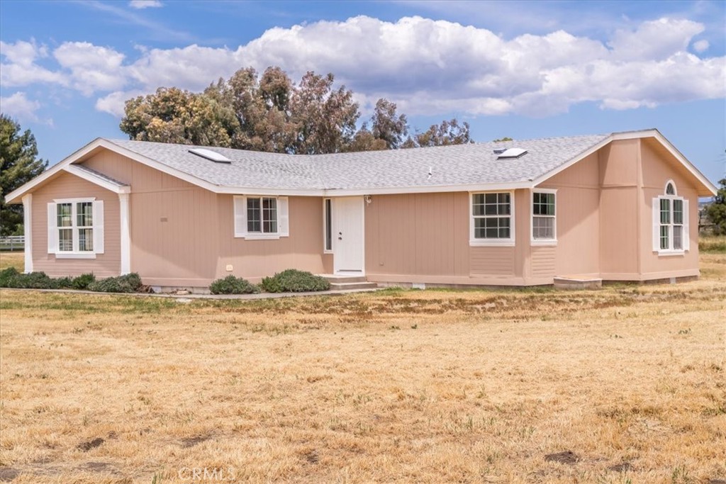
[[[234,237],[287,237],[287,197],[234,197]]]

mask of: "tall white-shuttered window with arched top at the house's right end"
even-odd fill
[[[672,181],[653,199],[653,251],[682,254],[688,250],[688,200],[679,197]]]

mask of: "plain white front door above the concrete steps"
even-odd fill
[[[333,267],[335,274],[363,275],[363,197],[340,197],[333,201]]]

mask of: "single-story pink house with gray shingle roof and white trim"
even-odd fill
[[[7,200],[51,276],[529,286],[698,276],[715,192],[653,129],[335,155],[96,139]]]

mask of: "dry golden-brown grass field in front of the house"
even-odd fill
[[[587,292],[3,290],[0,480],[725,479],[726,257],[702,267]]]

